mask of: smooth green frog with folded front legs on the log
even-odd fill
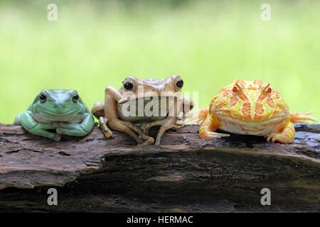
[[[75,90],[42,90],[14,125],[29,133],[59,141],[61,135],[84,136],[95,124],[90,110]]]

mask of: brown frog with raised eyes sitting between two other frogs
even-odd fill
[[[149,128],[161,126],[154,143],[160,145],[164,132],[181,127],[184,114],[193,108],[193,101],[181,96],[183,80],[176,74],[166,79],[127,77],[122,84],[118,90],[107,87],[105,103],[97,102],[91,110],[106,138],[112,136],[111,128],[129,134],[137,145],[153,144]]]

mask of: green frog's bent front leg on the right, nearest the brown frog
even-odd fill
[[[87,114],[81,123],[53,123],[57,127],[57,133],[62,135],[85,136],[92,131],[95,120],[91,114]]]

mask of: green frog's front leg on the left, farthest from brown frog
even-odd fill
[[[14,121],[15,125],[21,125],[26,131],[34,135],[41,135],[46,138],[50,138],[55,141],[59,141],[61,136],[57,133],[50,133],[47,130],[55,129],[53,124],[40,123],[33,120],[31,112],[26,111],[25,113],[19,114]]]

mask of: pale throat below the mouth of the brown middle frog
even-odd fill
[[[171,98],[171,101],[176,101],[176,98]],[[172,106],[171,101],[167,97],[161,96],[130,100],[117,105],[119,118],[131,122],[162,120],[169,114],[169,106]]]

